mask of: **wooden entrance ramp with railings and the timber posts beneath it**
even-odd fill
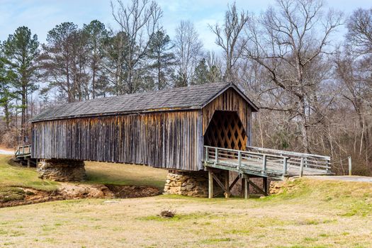
[[[247,147],[247,150],[232,150],[220,147],[204,146],[204,167],[208,170],[208,196],[213,197],[213,180],[230,196],[232,187],[241,178],[244,186],[244,198],[249,198],[249,186],[256,188],[264,196],[268,195],[267,179],[282,180],[291,176],[315,176],[332,174],[331,158],[317,154],[288,152],[261,147]],[[213,173],[216,169],[235,171],[236,178],[232,184],[225,179],[225,184]],[[263,188],[251,181],[262,178]]]

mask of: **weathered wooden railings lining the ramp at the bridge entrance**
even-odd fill
[[[290,154],[273,152],[272,150],[271,152],[241,151],[204,146],[204,162],[210,167],[232,171],[250,171],[249,173],[259,176],[302,176],[304,171],[306,174],[328,174],[329,157],[310,155],[312,154],[300,157],[298,154],[290,156]],[[326,162],[323,162],[323,159]]]

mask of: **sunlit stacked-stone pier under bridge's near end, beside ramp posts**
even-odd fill
[[[215,174],[221,181],[225,181],[225,173]],[[222,188],[215,181],[213,188],[214,196],[223,196]],[[208,171],[169,171],[164,194],[207,197]]]

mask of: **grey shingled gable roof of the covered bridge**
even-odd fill
[[[235,89],[252,106],[252,111],[258,111],[257,106],[235,84],[213,83],[64,103],[47,108],[35,116],[31,122],[124,113],[201,109],[229,88]]]

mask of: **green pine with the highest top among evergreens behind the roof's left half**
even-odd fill
[[[88,25],[84,24],[82,32],[86,35],[88,47],[88,64],[91,78],[91,98],[101,96],[108,84],[107,78],[104,75],[103,59],[104,59],[104,43],[108,38],[108,30],[103,23],[94,20]]]

